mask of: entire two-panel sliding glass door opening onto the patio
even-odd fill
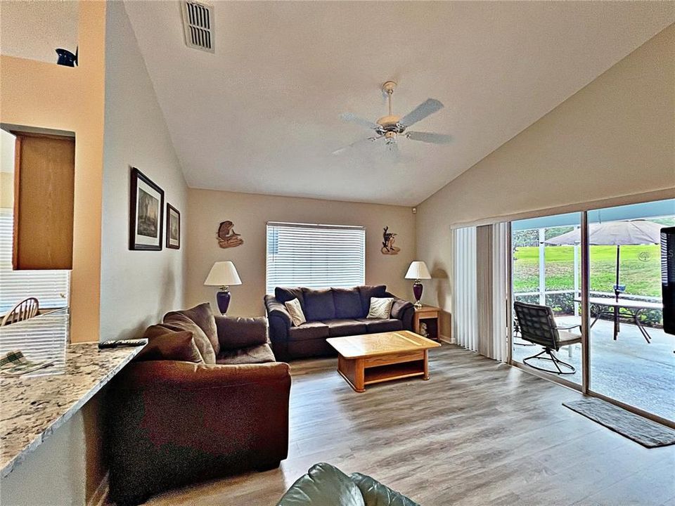
[[[510,226],[511,363],[675,420],[675,336],[663,331],[658,244],[660,229],[675,226],[675,200]],[[560,341],[547,345],[537,335],[550,321]]]

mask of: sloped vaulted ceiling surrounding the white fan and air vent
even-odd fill
[[[188,186],[416,205],[675,22],[672,2],[216,1],[215,53],[186,47],[180,4],[126,8]],[[432,97],[399,141],[331,153]]]

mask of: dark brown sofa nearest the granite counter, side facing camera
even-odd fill
[[[185,330],[191,322],[216,330],[212,349],[206,332]],[[162,329],[193,349],[170,348]],[[288,364],[275,361],[266,318],[214,317],[203,304],[168,313],[146,337],[147,350],[115,378],[108,397],[110,498],[118,506],[215,476],[278,467],[288,453],[290,374]],[[158,360],[166,353],[183,360]],[[211,354],[214,360],[206,358]]]

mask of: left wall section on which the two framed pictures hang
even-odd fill
[[[186,257],[185,244],[129,250],[129,166],[165,191],[184,223],[187,186],[124,4],[108,4],[107,17],[101,339],[124,339],[183,306]]]

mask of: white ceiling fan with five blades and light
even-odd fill
[[[367,137],[346,145],[344,148],[333,151],[333,155],[339,155],[340,153],[345,152],[349,148],[354,148],[355,146],[375,143],[380,141],[380,139],[385,140],[387,148],[390,150],[397,150],[397,136],[402,135],[405,138],[409,138],[411,141],[422,141],[425,143],[431,144],[447,144],[451,141],[451,136],[444,134],[434,134],[432,132],[420,132],[420,131],[408,131],[408,127],[417,123],[421,119],[432,115],[434,112],[437,112],[443,108],[443,104],[435,98],[427,98],[423,103],[420,103],[416,108],[409,112],[404,117],[394,115],[392,113],[392,95],[394,94],[394,88],[396,88],[396,83],[393,81],[387,81],[382,85],[382,90],[387,93],[387,101],[389,102],[389,115],[383,116],[378,119],[377,122],[373,123],[368,121],[368,119],[363,119],[358,116],[354,116],[351,112],[345,112],[340,115],[340,118],[345,121],[360,124],[366,126],[366,128],[373,129],[375,135]]]

